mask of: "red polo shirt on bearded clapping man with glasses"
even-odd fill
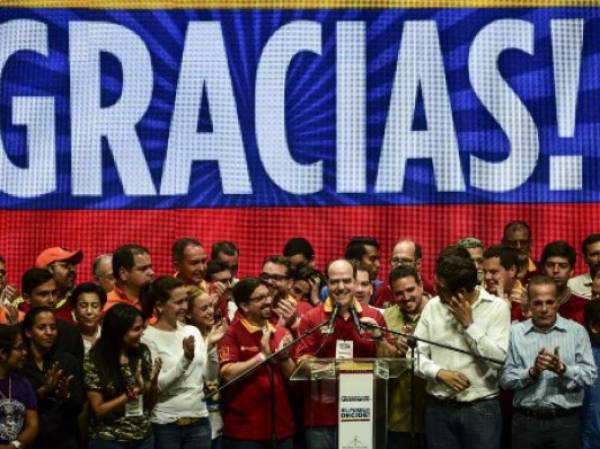
[[[271,350],[275,351],[289,331],[274,328]],[[229,326],[218,343],[221,368],[229,363],[243,362],[260,352],[262,330],[241,318]],[[274,397],[271,395],[270,370],[274,369]],[[277,439],[294,435],[294,418],[287,384],[278,363],[266,364],[250,376],[223,391],[223,435],[237,440],[263,441],[271,439],[272,404],[275,401],[275,433]]]

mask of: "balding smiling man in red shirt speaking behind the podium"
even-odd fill
[[[321,328],[298,344],[298,362],[312,358],[366,358],[397,356],[397,349],[383,338],[379,330],[370,333],[356,328],[352,314],[356,312],[361,322],[385,326],[381,313],[371,307],[363,307],[354,298],[356,291],[356,267],[345,259],[334,260],[327,267],[329,297],[324,303],[308,311],[300,320],[299,334],[330,319],[336,306],[339,312],[333,321],[332,333]],[[350,348],[350,349],[349,349]],[[350,354],[351,352],[351,354]],[[323,385],[318,395],[310,395],[305,402],[304,424],[309,448],[337,447],[337,385]]]

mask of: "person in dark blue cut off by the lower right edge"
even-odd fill
[[[600,301],[594,300],[585,308],[585,327],[592,341],[596,367],[600,366]],[[600,378],[587,388],[583,399],[581,449],[595,449],[600,445]]]

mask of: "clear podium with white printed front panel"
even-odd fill
[[[290,380],[305,384],[307,426],[337,425],[338,449],[382,449],[387,447],[388,381],[411,371],[412,363],[315,358],[302,361]]]

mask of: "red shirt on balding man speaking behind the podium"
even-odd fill
[[[369,306],[363,307],[356,300],[354,307],[359,318],[373,318],[377,324],[385,326],[383,315],[378,310]],[[332,300],[327,298],[324,303],[302,317],[298,332],[303,334],[322,323],[331,316],[332,310]],[[354,358],[376,356],[376,343],[370,337],[358,333],[351,317],[344,320],[341,315],[338,315],[333,323],[333,334],[326,334],[325,327],[322,327],[298,343],[295,355],[298,358],[303,355],[334,358],[337,340],[352,340]],[[306,427],[337,426],[338,424],[337,382],[321,381],[321,387],[319,391],[310,391],[308,399],[304,403],[304,425]]]

